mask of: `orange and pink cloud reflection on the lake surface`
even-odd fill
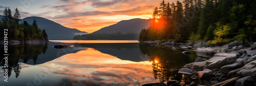
[[[133,62],[103,54],[94,49],[67,54],[41,65],[48,74],[58,75],[54,85],[142,85],[157,82],[152,75],[151,62]]]

